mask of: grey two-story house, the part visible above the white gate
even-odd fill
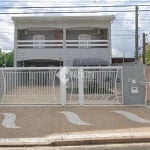
[[[12,17],[14,66],[110,65],[114,16]]]

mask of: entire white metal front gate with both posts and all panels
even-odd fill
[[[123,104],[122,67],[3,68],[1,104]]]

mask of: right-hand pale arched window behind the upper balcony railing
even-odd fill
[[[79,34],[79,48],[89,48],[90,35],[89,34]]]

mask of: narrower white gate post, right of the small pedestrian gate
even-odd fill
[[[78,69],[79,104],[84,104],[84,74],[83,68]]]

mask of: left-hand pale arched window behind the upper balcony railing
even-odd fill
[[[34,35],[33,36],[33,48],[43,48],[44,47],[44,35]]]

